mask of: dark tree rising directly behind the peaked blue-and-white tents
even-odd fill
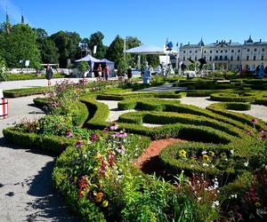
[[[97,46],[96,53],[93,55],[96,59],[103,59],[106,54],[106,47],[103,44],[104,35],[98,31],[90,36],[88,47],[93,52],[93,46]]]

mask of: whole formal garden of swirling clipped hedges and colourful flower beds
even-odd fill
[[[5,129],[4,138],[58,155],[53,187],[81,220],[266,221],[267,125],[235,110],[267,106],[267,81],[176,75],[157,76],[151,85],[163,83],[189,90],[58,83],[34,101],[46,115]],[[200,108],[182,104],[184,97],[216,103]],[[107,101],[125,111],[117,122],[107,121],[114,111]],[[168,139],[176,140],[139,162],[152,141]]]

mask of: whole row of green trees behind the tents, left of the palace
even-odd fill
[[[31,28],[28,24],[2,24],[0,29],[0,59],[6,67],[21,67],[21,60],[29,60],[29,67],[41,68],[40,64],[56,63],[67,67],[68,59],[73,62],[85,56],[79,43],[87,45],[90,54],[93,46],[97,51],[96,59],[109,59],[115,66],[124,71],[128,66],[136,67],[137,56],[127,54],[124,57],[124,39],[116,36],[109,46],[103,44],[104,35],[98,31],[90,37],[81,38],[77,32],[59,31],[51,36],[43,28]],[[126,49],[141,45],[134,36],[125,39]],[[157,56],[142,56],[142,63],[149,61],[152,67],[159,64]]]

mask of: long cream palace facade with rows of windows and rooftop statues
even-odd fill
[[[249,36],[244,44],[233,43],[231,40],[216,41],[214,44],[204,44],[201,41],[198,44],[185,44],[180,46],[180,63],[189,66],[193,60],[199,64],[198,59],[206,59],[207,69],[225,69],[238,70],[239,67],[250,67],[254,69],[263,63],[267,66],[267,43],[260,39],[254,42]]]

